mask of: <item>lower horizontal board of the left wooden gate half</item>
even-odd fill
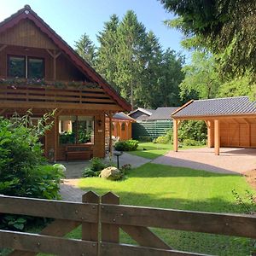
[[[91,241],[68,240],[54,236],[3,230],[0,230],[0,247],[63,256],[96,255],[95,243]]]

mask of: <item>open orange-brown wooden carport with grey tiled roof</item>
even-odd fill
[[[256,148],[256,102],[247,96],[192,100],[172,113],[173,148],[177,151],[178,126],[183,120],[207,124],[207,144],[220,147]]]

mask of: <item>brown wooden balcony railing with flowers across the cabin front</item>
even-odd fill
[[[53,85],[25,84],[11,85],[0,84],[0,102],[19,104],[32,104],[34,106],[42,104],[63,105],[64,108],[71,106],[86,106],[93,104],[115,105],[115,102],[102,90],[102,88],[79,89],[67,86],[65,89],[56,88]],[[1,107],[1,106],[0,106]],[[79,107],[79,108],[80,108]]]

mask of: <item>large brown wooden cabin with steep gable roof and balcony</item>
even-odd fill
[[[52,160],[105,155],[105,116],[129,103],[26,5],[0,23],[0,115],[56,109],[43,139]]]

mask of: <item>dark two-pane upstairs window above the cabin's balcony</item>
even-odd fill
[[[10,78],[44,79],[44,59],[28,56],[9,56]]]

